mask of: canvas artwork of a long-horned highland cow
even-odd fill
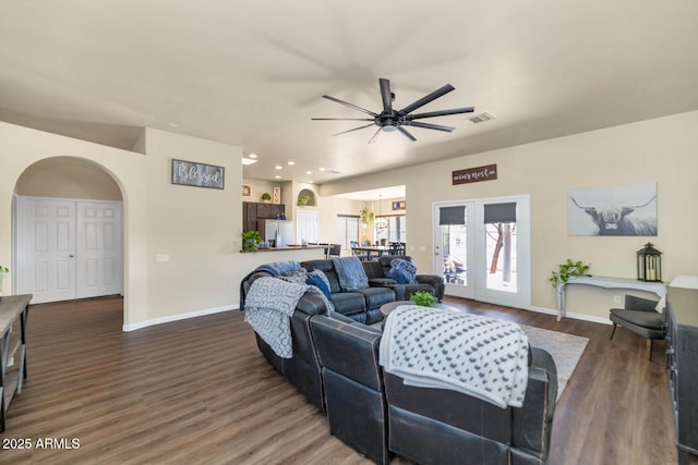
[[[568,235],[657,235],[657,183],[570,189]]]

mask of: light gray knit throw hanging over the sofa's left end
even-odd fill
[[[244,303],[244,320],[281,358],[293,356],[291,316],[305,292],[318,294],[328,309],[332,304],[314,285],[263,277],[250,286]]]

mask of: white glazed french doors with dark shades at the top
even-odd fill
[[[446,294],[530,305],[529,197],[434,204],[434,272]]]

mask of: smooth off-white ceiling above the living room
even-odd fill
[[[373,145],[373,129],[311,121],[364,117],[323,94],[380,110],[378,77],[396,108],[449,83],[420,111],[496,119]],[[144,126],[230,143],[258,155],[254,179],[324,183],[696,110],[697,83],[695,0],[0,2],[0,120],[122,148]]]

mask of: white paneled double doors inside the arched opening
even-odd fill
[[[32,303],[123,292],[122,205],[17,197],[16,290]]]

